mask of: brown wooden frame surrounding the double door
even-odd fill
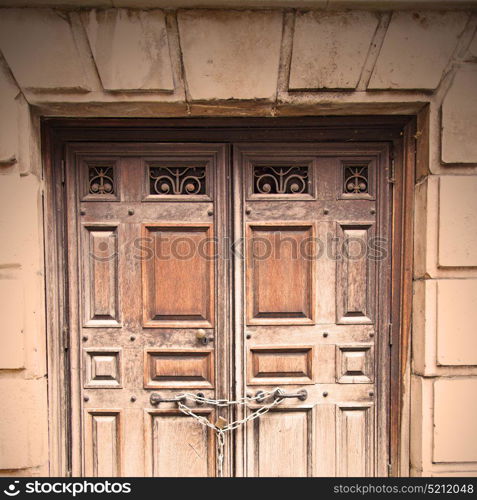
[[[389,474],[409,470],[408,390],[412,309],[413,198],[415,179],[414,116],[299,118],[61,119],[41,123],[45,179],[44,230],[48,352],[50,475],[71,473],[71,387],[65,235],[65,152],[77,142],[379,142],[392,144],[392,323],[389,372]],[[231,221],[232,223],[232,221]],[[408,387],[406,387],[408,389]],[[406,463],[407,462],[407,463]]]

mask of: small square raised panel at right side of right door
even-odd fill
[[[371,384],[373,380],[372,344],[336,346],[336,381],[339,384]]]

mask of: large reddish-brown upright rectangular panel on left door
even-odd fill
[[[148,328],[212,327],[211,224],[143,226],[143,320]]]

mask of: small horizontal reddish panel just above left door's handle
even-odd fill
[[[212,350],[147,350],[144,352],[144,387],[212,388]]]

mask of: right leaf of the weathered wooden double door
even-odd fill
[[[372,144],[234,150],[246,241],[237,380],[249,394],[306,395],[248,425],[238,463],[249,476],[386,474],[388,375],[375,344],[389,314],[388,156]]]

